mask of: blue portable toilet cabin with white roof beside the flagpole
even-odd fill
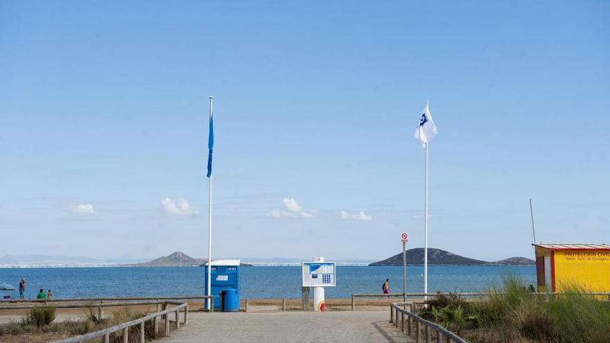
[[[236,304],[239,304],[240,293],[241,293],[241,284],[240,284],[240,274],[241,267],[239,260],[213,260],[212,261],[212,270],[211,270],[211,295],[214,296],[214,310],[220,310],[220,292],[223,290],[234,289],[236,290],[236,294],[232,292],[232,297],[236,297],[237,299],[232,299],[236,301]],[[204,290],[205,294],[207,294],[207,262],[203,264],[204,267]],[[204,302],[205,306],[207,306],[207,301]],[[234,310],[238,310],[234,309]]]

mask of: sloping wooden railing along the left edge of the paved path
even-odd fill
[[[164,309],[157,313],[147,315],[146,317],[141,317],[140,319],[132,320],[131,322],[112,326],[111,328],[105,328],[103,330],[96,331],[94,333],[87,333],[85,335],[68,338],[67,340],[60,340],[60,341],[57,341],[56,343],[80,343],[80,342],[85,342],[87,340],[94,340],[96,338],[102,338],[102,337],[103,337],[104,343],[109,343],[110,335],[112,333],[116,333],[118,331],[123,331],[123,343],[128,343],[129,342],[129,328],[132,326],[139,326],[139,331],[138,331],[139,336],[140,336],[139,342],[146,343],[146,337],[144,335],[144,328],[145,328],[146,322],[148,322],[149,320],[153,320],[155,334],[159,333],[159,319],[161,317],[163,317],[162,319],[164,319],[164,321],[165,321],[165,323],[164,323],[165,324],[164,325],[165,333],[166,334],[169,333],[169,322],[170,322],[169,317],[170,317],[171,313],[175,313],[176,328],[180,328],[180,310],[184,311],[184,319],[183,319],[182,325],[186,325],[189,322],[189,303],[165,301],[163,307],[166,308],[168,305],[177,305],[177,306],[174,306],[173,308],[167,308],[167,309]]]

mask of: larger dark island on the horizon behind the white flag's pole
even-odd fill
[[[408,249],[406,252],[407,264],[423,265],[424,248]],[[442,249],[428,248],[428,264],[430,265],[536,265],[536,261],[525,257],[511,257],[504,260],[487,262],[467,258],[458,254],[453,254]],[[403,265],[403,253],[400,252],[383,261],[371,263],[372,266],[380,265]]]

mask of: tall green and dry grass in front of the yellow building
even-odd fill
[[[610,342],[610,303],[570,286],[558,295],[534,294],[516,276],[488,291],[482,301],[441,295],[420,315],[473,343]]]

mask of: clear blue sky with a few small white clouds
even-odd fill
[[[610,243],[607,1],[1,1],[0,255]]]

